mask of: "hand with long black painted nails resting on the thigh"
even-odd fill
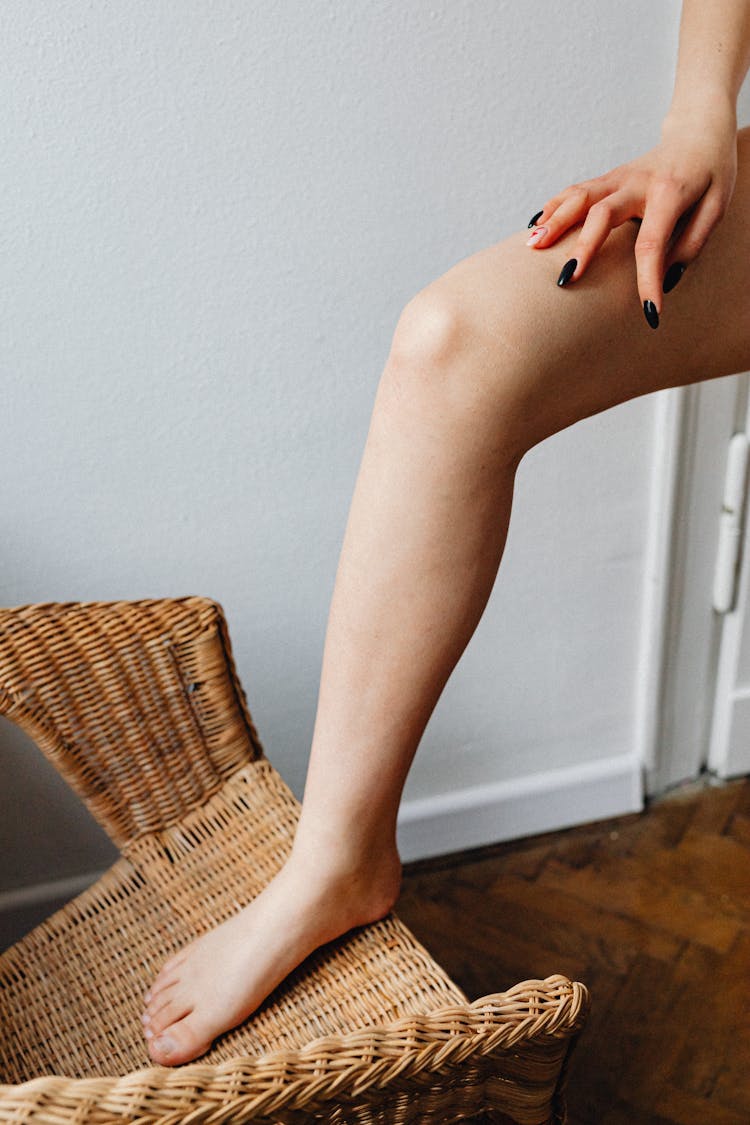
[[[550,199],[530,224],[534,231],[528,245],[545,250],[582,222],[572,256],[558,279],[558,285],[567,285],[584,274],[615,226],[641,219],[635,240],[638,290],[645,318],[656,328],[662,291],[674,288],[701,253],[726,212],[735,179],[734,109],[671,110],[661,143],[650,152]]]

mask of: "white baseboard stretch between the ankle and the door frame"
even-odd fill
[[[542,774],[404,801],[404,862],[558,831],[643,809],[641,762],[620,755]]]

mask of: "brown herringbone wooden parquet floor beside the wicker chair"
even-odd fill
[[[396,911],[470,999],[588,987],[569,1125],[750,1125],[750,778],[409,864]]]

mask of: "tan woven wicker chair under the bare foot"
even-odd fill
[[[555,975],[470,1004],[392,914],[314,953],[201,1059],[151,1061],[144,991],[272,878],[299,808],[216,602],[0,610],[0,713],[120,850],[0,956],[0,1122],[566,1119],[586,988]]]

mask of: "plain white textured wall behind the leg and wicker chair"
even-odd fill
[[[217,598],[300,794],[398,314],[554,190],[658,138],[678,16],[650,0],[6,0],[0,603]],[[631,763],[652,420],[638,399],[524,459],[410,801]],[[101,865],[78,802],[0,736],[0,889]],[[630,781],[579,819],[638,807]],[[34,802],[38,821],[18,812]],[[539,830],[518,816],[485,838]]]

